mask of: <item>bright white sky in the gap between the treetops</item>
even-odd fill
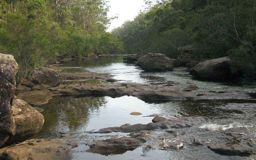
[[[115,27],[121,26],[126,20],[133,20],[140,10],[145,7],[143,0],[108,0],[111,8],[108,17],[114,17],[118,14],[118,19],[114,19],[108,28],[108,32]]]

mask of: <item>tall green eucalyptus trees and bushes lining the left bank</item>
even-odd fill
[[[0,53],[14,55],[19,76],[29,78],[57,56],[122,52],[106,32],[108,9],[105,0],[0,0]]]

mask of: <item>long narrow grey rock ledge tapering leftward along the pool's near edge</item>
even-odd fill
[[[170,128],[185,128],[191,127],[196,124],[205,122],[204,117],[185,117],[167,120],[159,123],[148,123],[148,124],[125,124],[120,127],[108,127],[100,130],[92,130],[89,133],[111,133],[111,132],[136,132],[140,130],[155,130],[155,129],[170,129]]]

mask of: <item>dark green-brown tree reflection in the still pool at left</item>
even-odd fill
[[[76,132],[89,123],[90,116],[100,112],[107,103],[105,97],[65,96],[54,97],[44,108],[45,123],[42,133],[54,134],[59,131]]]

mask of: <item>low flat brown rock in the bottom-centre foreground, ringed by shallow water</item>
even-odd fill
[[[122,137],[118,139],[106,139],[103,141],[96,141],[90,144],[89,152],[92,153],[108,153],[122,150],[134,150],[141,146],[141,142],[136,138]]]

